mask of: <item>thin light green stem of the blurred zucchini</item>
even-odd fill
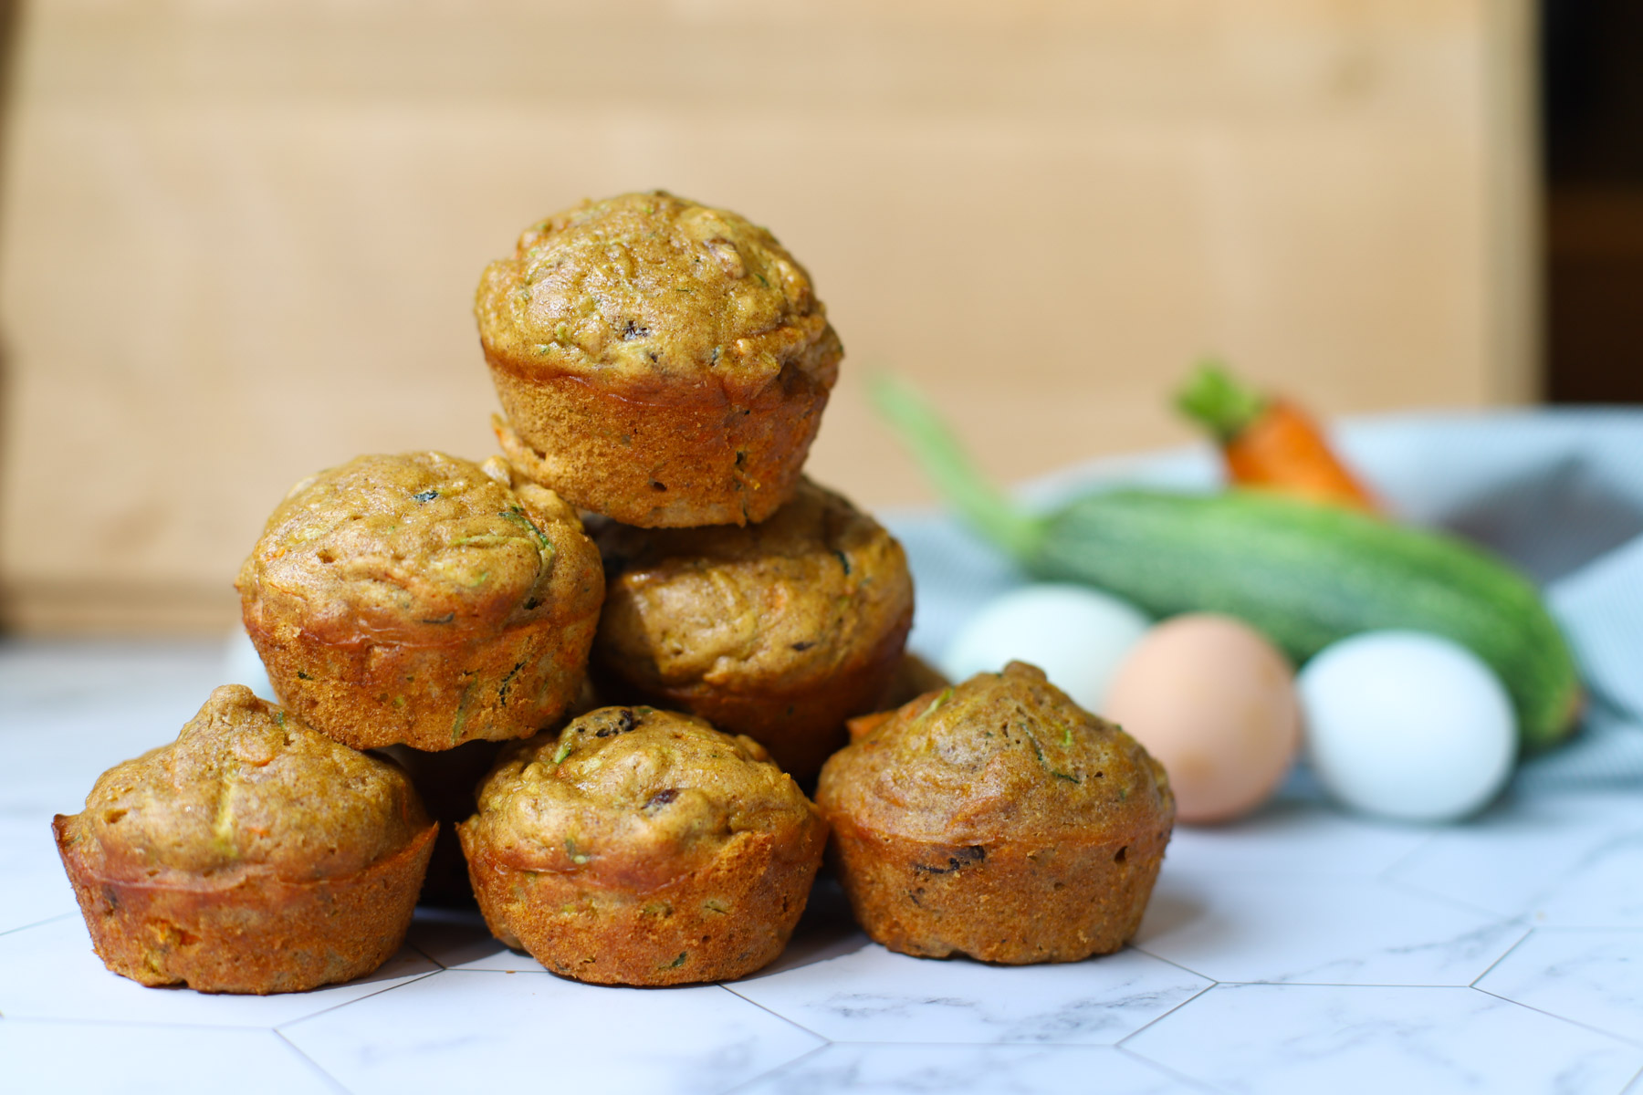
[[[900,376],[877,373],[868,379],[868,397],[960,517],[1017,560],[1029,560],[1037,553],[1043,522],[1024,514],[981,474],[923,392]]]

